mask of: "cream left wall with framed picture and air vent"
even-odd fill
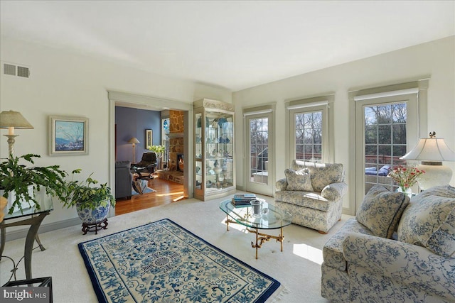
[[[109,180],[109,113],[107,90],[192,103],[210,98],[231,102],[228,89],[134,70],[114,62],[94,60],[64,49],[1,38],[0,60],[30,67],[29,79],[0,76],[0,110],[12,109],[34,126],[17,130],[15,155],[41,155],[36,165],[60,165],[70,172],[82,168],[85,177],[95,172],[100,182]],[[89,155],[48,156],[48,116],[85,116],[89,119]],[[6,134],[6,130],[1,131]],[[0,138],[0,158],[8,155],[6,138]],[[112,184],[111,184],[112,186]],[[43,224],[77,218],[75,209],[54,203]]]

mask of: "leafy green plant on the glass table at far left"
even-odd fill
[[[52,197],[65,199],[66,182],[64,178],[68,174],[60,170],[58,165],[38,167],[20,163],[21,160],[25,160],[33,165],[35,163],[33,158],[40,157],[35,154],[19,157],[11,155],[10,158],[0,163],[0,189],[4,191],[2,196],[6,199],[10,195],[14,196],[14,201],[9,207],[9,214],[13,214],[15,208],[23,213],[24,202],[27,208],[36,206],[37,209],[40,209],[40,204],[36,201],[33,192],[39,191],[41,188]]]

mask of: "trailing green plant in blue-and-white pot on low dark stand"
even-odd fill
[[[65,184],[65,199],[62,203],[67,207],[76,207],[77,214],[83,224],[96,224],[106,219],[110,206],[115,206],[107,183],[96,185],[99,182],[92,179],[90,174],[85,180],[74,180],[74,175],[80,173],[80,169],[73,170],[73,180]]]

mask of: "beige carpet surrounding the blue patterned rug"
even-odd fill
[[[262,198],[267,202],[273,202],[271,197]],[[326,235],[291,224],[284,228],[284,251],[282,253],[279,251],[279,243],[269,241],[259,249],[259,259],[256,260],[255,250],[251,247],[254,234],[245,233],[244,228],[236,227],[234,224],[230,225],[230,231],[226,231],[225,215],[218,208],[222,200],[200,202],[197,199],[188,199],[109,218],[108,229],[100,231],[98,236],[95,233],[82,235],[80,226],[41,233],[41,242],[46,250],[41,251],[39,248],[33,250],[33,277],[52,277],[54,302],[97,302],[92,283],[77,250],[77,243],[168,218],[281,282],[285,288],[277,297],[279,302],[328,302],[321,297],[321,249],[349,216],[343,216]],[[6,242],[4,255],[16,260],[21,258],[24,240]],[[7,282],[11,275],[10,270],[11,262],[2,258],[0,285]],[[18,280],[25,278],[23,263],[18,269],[17,276]]]

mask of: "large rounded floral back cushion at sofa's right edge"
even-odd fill
[[[455,258],[455,187],[432,187],[413,197],[397,234],[398,241]]]

